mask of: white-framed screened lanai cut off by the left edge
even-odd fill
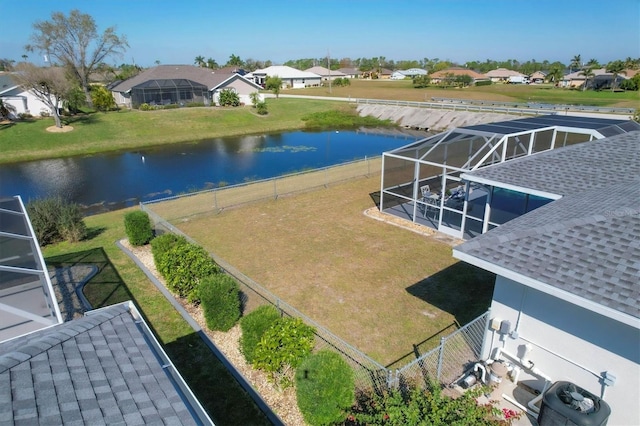
[[[20,197],[0,198],[0,341],[62,322]]]

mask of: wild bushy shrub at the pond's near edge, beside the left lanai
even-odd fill
[[[86,236],[87,228],[78,204],[50,197],[31,201],[26,209],[42,246],[63,240],[77,242]]]

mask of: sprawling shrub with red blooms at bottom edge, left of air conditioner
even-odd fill
[[[444,395],[439,384],[424,390],[410,387],[393,389],[384,395],[372,392],[358,397],[351,409],[349,420],[362,425],[480,425],[511,424],[518,416],[498,420],[505,416],[491,403],[479,404],[476,398],[490,392],[487,387],[466,391],[457,398]]]

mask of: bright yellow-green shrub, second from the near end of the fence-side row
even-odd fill
[[[300,318],[279,318],[264,332],[254,353],[253,366],[269,373],[278,386],[293,384],[293,373],[313,349],[315,329]]]

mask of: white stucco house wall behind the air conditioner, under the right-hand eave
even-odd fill
[[[525,344],[532,350],[527,358],[553,382],[566,380],[602,397],[611,407],[610,425],[640,424],[640,331],[593,313],[581,306],[497,277],[491,318],[511,322],[518,337],[489,330],[483,357],[503,347],[516,357]],[[616,377],[613,386],[603,387],[601,375]],[[526,380],[542,390],[543,381],[523,371]]]

